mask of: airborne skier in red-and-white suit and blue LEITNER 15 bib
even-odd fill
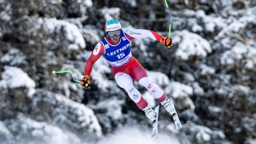
[[[155,99],[160,101],[167,112],[173,115],[175,113],[174,107],[166,94],[147,77],[145,69],[132,56],[130,51],[130,41],[133,39],[151,38],[159,41],[167,48],[173,48],[172,39],[162,37],[158,33],[146,29],[122,30],[121,24],[115,19],[106,22],[105,33],[107,36],[96,44],[94,51],[86,62],[84,67],[85,76],[80,81],[80,85],[90,89],[90,73],[92,72],[93,65],[101,55],[104,55],[110,63],[112,74],[117,84],[127,91],[130,99],[145,112],[146,117],[152,122],[156,120],[156,115],[152,107],[133,86],[133,79],[146,87],[154,95]]]

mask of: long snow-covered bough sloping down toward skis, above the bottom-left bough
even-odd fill
[[[44,89],[37,89],[32,101],[33,114],[42,112],[42,104],[52,110],[49,113],[51,124],[64,130],[80,130],[96,137],[102,136],[101,127],[92,109],[82,103],[72,101],[61,94],[55,94]],[[44,109],[43,109],[44,110]],[[47,112],[47,111],[46,111]],[[40,114],[39,114],[40,115]]]

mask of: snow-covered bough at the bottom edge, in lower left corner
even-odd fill
[[[31,144],[81,144],[80,139],[67,131],[46,122],[37,122],[23,114],[18,114],[16,119],[6,123],[11,132],[16,132],[17,140],[26,140]],[[22,142],[21,141],[21,142]]]

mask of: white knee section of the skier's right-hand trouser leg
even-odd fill
[[[160,87],[153,83],[148,77],[140,79],[139,84],[146,87],[147,90],[155,97],[155,99],[160,98],[164,94]]]

